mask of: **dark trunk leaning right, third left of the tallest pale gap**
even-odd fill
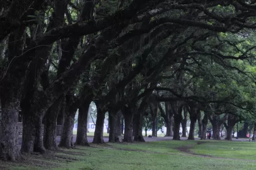
[[[57,150],[56,126],[58,112],[60,111],[63,97],[57,99],[47,110],[44,123],[44,147],[49,150]]]

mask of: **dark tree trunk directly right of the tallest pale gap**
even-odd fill
[[[103,139],[103,128],[104,128],[105,113],[102,112],[99,105],[97,105],[97,119],[94,131],[93,143],[105,143]]]

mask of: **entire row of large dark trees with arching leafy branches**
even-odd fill
[[[162,107],[170,136],[174,122],[175,140],[185,113],[188,139],[194,139],[201,111],[201,134],[209,119],[215,139],[224,119],[228,133],[238,119],[253,119],[254,5],[253,0],[2,2],[0,158],[20,160],[21,153],[58,149],[58,114],[64,114],[59,146],[71,147],[77,109],[76,144],[88,145],[92,101],[97,107],[93,143],[104,142],[106,112],[110,142],[118,140],[121,113],[125,142],[144,141],[148,109],[155,120]]]

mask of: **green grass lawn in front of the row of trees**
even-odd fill
[[[256,143],[162,141],[101,144],[0,161],[1,170],[255,170]]]

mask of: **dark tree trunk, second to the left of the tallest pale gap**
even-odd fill
[[[66,95],[66,108],[59,147],[73,147],[73,127],[78,109],[77,102],[73,93]]]

